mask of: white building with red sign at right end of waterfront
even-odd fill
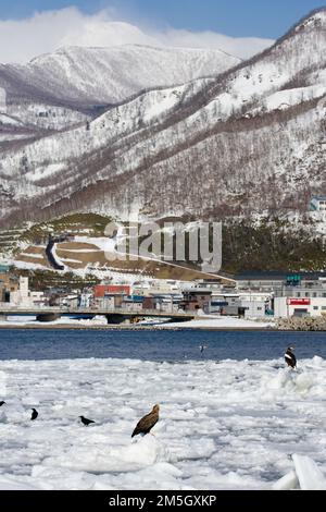
[[[276,318],[326,316],[326,296],[317,297],[275,297]]]

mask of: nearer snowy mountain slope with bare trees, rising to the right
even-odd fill
[[[142,93],[87,125],[7,149],[2,222],[73,210],[304,212],[313,193],[326,193],[325,130],[322,9],[225,73]]]

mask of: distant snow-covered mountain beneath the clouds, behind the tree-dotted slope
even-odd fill
[[[61,130],[143,89],[216,75],[239,62],[220,50],[68,47],[26,65],[0,65],[0,88],[12,118]]]

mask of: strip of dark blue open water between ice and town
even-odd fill
[[[200,345],[208,345],[203,354]],[[298,359],[326,358],[324,332],[0,330],[0,359],[274,359],[296,346]]]

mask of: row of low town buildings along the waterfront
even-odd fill
[[[227,318],[255,321],[259,327],[279,319],[323,319],[326,272],[242,272],[195,281],[111,278],[82,290],[65,285],[35,291],[28,277],[17,277],[12,267],[1,265],[1,325],[27,315],[41,324],[70,317],[98,325],[102,317],[111,326],[183,321],[187,327],[191,320],[193,325]]]

